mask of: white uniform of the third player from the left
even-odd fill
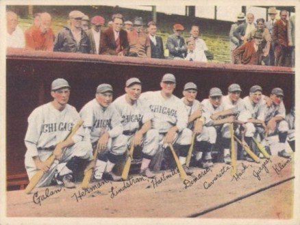
[[[125,99],[126,94],[114,100],[114,107],[122,118],[123,134],[127,137],[127,145],[131,145],[132,137],[142,124],[154,118],[145,101],[138,99],[134,105],[129,105]],[[158,130],[150,129],[142,138],[142,153],[153,156],[158,150]]]

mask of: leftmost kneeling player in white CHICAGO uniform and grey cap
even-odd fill
[[[79,129],[71,139],[66,139],[80,120],[75,107],[68,105],[70,91],[65,79],[55,79],[51,84],[53,101],[34,109],[28,118],[25,135],[27,175],[31,179],[37,170],[45,172],[36,187],[50,185],[55,176],[59,185],[73,188],[78,168],[92,159],[92,146],[83,141],[83,129]],[[47,166],[45,160],[51,154],[55,161]]]

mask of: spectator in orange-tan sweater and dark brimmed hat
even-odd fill
[[[142,17],[134,19],[134,29],[128,33],[129,53],[132,57],[151,57],[149,35],[142,30]]]

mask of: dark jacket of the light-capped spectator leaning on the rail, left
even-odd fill
[[[55,38],[53,51],[63,51],[66,53],[90,53],[90,41],[85,31],[82,31],[82,37],[77,44],[71,29],[64,27]]]

